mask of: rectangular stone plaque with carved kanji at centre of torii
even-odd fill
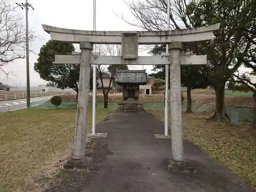
[[[138,34],[137,33],[122,34],[122,58],[123,59],[138,58]]]

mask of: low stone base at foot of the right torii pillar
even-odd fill
[[[196,173],[196,169],[189,162],[168,161],[168,172],[170,173]]]

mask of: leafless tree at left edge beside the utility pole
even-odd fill
[[[25,58],[26,28],[22,17],[7,0],[0,0],[0,69],[15,59]],[[29,40],[35,38],[32,31]]]

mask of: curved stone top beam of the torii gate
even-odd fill
[[[138,44],[155,45],[168,44],[173,41],[193,42],[209,40],[213,36],[213,31],[220,28],[220,23],[208,27],[172,31],[84,31],[48,25],[42,25],[42,27],[47,33],[50,33],[52,40],[72,42],[74,44],[79,44],[81,41],[94,44],[121,44],[123,33],[136,33]]]

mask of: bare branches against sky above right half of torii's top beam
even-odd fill
[[[145,1],[124,1],[132,15],[137,20],[136,23],[129,22],[123,15],[119,16],[126,23],[148,30],[164,31],[167,20],[166,0],[145,0]],[[170,29],[192,28],[189,16],[186,14],[186,0],[173,0],[170,5]]]

